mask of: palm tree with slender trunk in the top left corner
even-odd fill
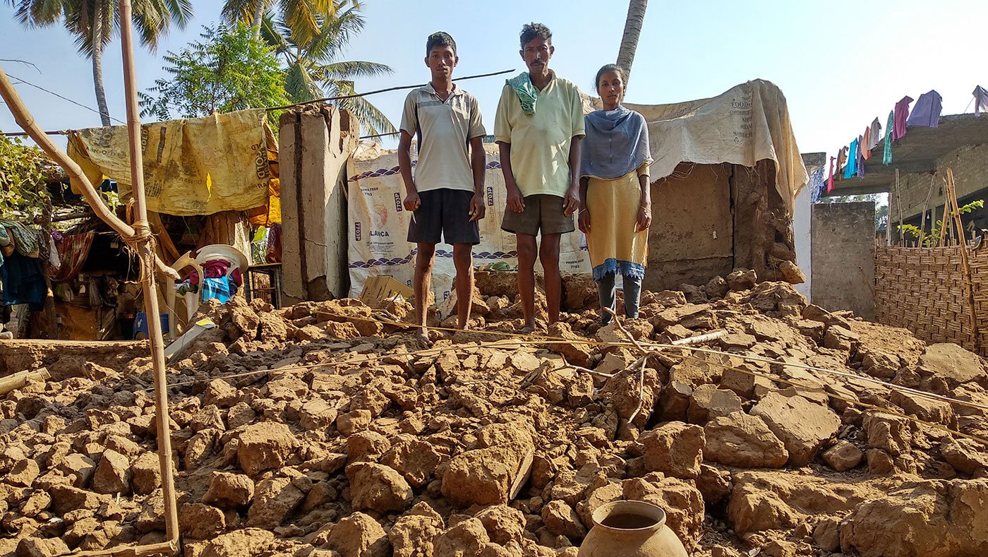
[[[103,125],[110,125],[110,109],[103,86],[103,50],[120,25],[115,0],[7,0],[25,27],[61,23],[75,36],[79,52],[93,61],[93,85]],[[152,51],[168,34],[172,23],[182,29],[192,19],[191,0],[134,0],[133,24],[141,43]]]

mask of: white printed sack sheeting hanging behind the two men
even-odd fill
[[[501,219],[508,202],[500,158],[496,146],[488,144],[485,147],[487,171],[484,177],[484,203],[487,210],[480,220],[480,244],[473,246],[473,265],[506,263],[514,269],[518,265],[515,235],[501,230]],[[411,213],[402,205],[405,186],[398,172],[397,153],[383,151],[371,156],[373,158],[361,160],[363,157],[358,152],[356,175],[349,181],[352,297],[360,295],[369,277],[388,276],[410,285],[415,275],[416,245],[407,241]],[[581,244],[585,246],[586,242],[579,231],[562,235],[560,272],[590,273],[590,257]],[[449,297],[455,276],[453,246],[437,245],[432,275],[432,289],[437,302]]]

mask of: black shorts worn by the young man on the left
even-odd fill
[[[447,244],[480,243],[480,226],[470,222],[470,199],[466,190],[429,190],[419,192],[422,204],[412,213],[408,224],[408,241],[416,244],[438,244],[440,236]]]

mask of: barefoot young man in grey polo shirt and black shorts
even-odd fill
[[[426,304],[440,236],[453,244],[456,313],[460,329],[470,321],[473,299],[473,246],[480,243],[477,220],[484,217],[483,119],[476,98],[453,83],[456,42],[439,32],[426,40],[426,65],[432,81],[405,99],[398,141],[398,167],[405,183],[405,209],[413,211],[408,241],[418,244],[415,259],[415,318],[419,339],[431,345]],[[409,154],[418,138],[419,160],[412,176]]]

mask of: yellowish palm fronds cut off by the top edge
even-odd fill
[[[332,18],[347,4],[360,6],[360,0],[226,0],[222,17],[228,24],[245,23],[254,28],[254,37],[268,12],[278,4],[279,19],[291,30],[292,39],[308,42],[319,33],[320,22]]]

